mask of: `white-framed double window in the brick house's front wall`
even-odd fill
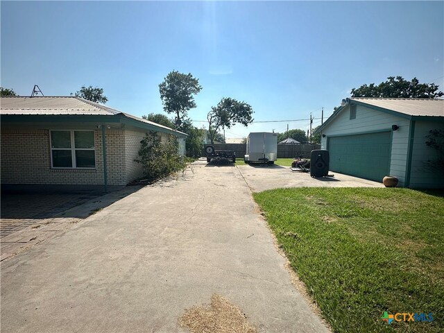
[[[92,130],[51,130],[53,168],[95,168]]]

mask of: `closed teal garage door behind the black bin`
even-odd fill
[[[330,170],[382,182],[390,171],[391,132],[329,137]]]

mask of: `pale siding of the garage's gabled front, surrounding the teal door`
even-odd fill
[[[329,136],[391,130],[392,125],[398,125],[400,128],[393,132],[390,174],[398,177],[400,186],[404,186],[410,128],[407,119],[357,105],[356,119],[350,120],[350,106],[348,106],[324,128],[323,134],[326,137],[322,138],[321,148],[327,148]]]

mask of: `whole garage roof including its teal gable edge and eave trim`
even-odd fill
[[[371,97],[350,97],[343,100],[345,104],[336,109],[333,114],[314,133],[321,131],[332,122],[349,104],[364,105],[367,108],[395,114],[407,119],[444,118],[444,99],[381,99]]]

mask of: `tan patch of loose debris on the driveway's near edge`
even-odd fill
[[[216,293],[211,296],[210,305],[187,309],[180,317],[179,324],[180,327],[187,327],[191,333],[258,332],[238,307]]]

